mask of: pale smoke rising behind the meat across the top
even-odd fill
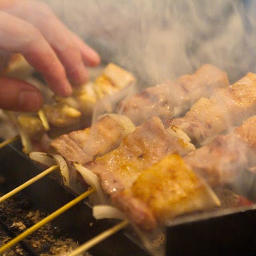
[[[253,1],[44,0],[67,26],[147,85],[203,63],[231,82],[256,71]]]

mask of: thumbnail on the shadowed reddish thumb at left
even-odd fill
[[[21,91],[18,97],[18,108],[20,111],[36,111],[43,103],[42,97],[35,91]]]

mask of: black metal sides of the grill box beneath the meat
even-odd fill
[[[3,178],[1,193],[24,183],[43,168],[21,152],[16,141],[0,149],[0,175]],[[77,196],[58,179],[48,175],[15,196],[43,213],[51,213]],[[253,197],[253,195],[249,195]],[[25,203],[26,205],[26,203]],[[0,235],[15,236],[9,228],[8,215],[0,205]],[[95,220],[86,200],[75,205],[54,221],[51,229],[57,237],[70,237],[82,244],[115,225],[111,219]],[[256,205],[223,209],[179,217],[167,225],[165,255],[256,255]],[[50,232],[50,231],[49,231]],[[26,241],[21,241],[23,255],[39,255]],[[47,252],[46,252],[47,253]],[[119,231],[95,245],[89,253],[97,255],[151,255],[130,230]],[[47,254],[46,254],[47,255]]]

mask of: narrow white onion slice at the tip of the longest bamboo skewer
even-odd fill
[[[79,163],[74,163],[75,169],[81,174],[85,182],[96,189],[100,203],[105,203],[105,195],[101,189],[98,176]]]

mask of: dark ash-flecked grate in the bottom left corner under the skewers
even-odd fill
[[[12,239],[23,232],[25,228],[34,225],[46,214],[38,211],[22,197],[13,197],[1,203],[0,223],[5,232],[5,239]],[[65,247],[63,245],[65,244]],[[65,253],[75,248],[77,243],[59,232],[57,227],[45,225],[35,231],[33,235],[23,239],[21,246],[14,245],[5,251],[6,255],[49,255],[53,253]]]

